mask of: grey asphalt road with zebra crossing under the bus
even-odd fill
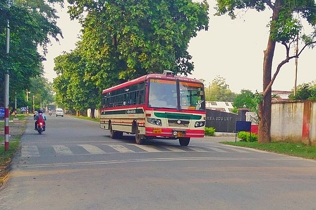
[[[316,210],[316,161],[220,144],[136,145],[88,120],[30,119],[1,210]]]

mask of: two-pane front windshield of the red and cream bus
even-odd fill
[[[205,110],[203,84],[151,79],[149,87],[150,107]]]

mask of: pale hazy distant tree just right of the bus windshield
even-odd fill
[[[233,101],[236,93],[229,89],[226,79],[216,76],[205,90],[207,101]]]

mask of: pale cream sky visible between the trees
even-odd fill
[[[240,12],[235,20],[227,15],[214,16],[214,0],[209,3],[209,28],[198,31],[197,36],[189,43],[188,52],[192,55],[195,70],[191,78],[203,79],[208,85],[216,76],[226,80],[230,90],[240,93],[240,90],[262,91],[263,52],[267,48],[271,10],[256,12],[248,10]],[[58,9],[60,19],[57,25],[61,28],[64,38],[60,42],[52,40],[48,47],[46,61],[43,62],[45,76],[49,81],[56,77],[54,58],[63,51],[70,52],[76,48],[79,40],[80,25],[71,21],[66,8]],[[299,43],[299,48],[302,44]],[[294,53],[294,51],[292,51]],[[276,66],[285,59],[285,48],[276,44],[273,62],[273,74]],[[297,85],[316,80],[316,49],[305,49],[298,59]],[[295,83],[295,62],[282,66],[272,90],[292,90]]]

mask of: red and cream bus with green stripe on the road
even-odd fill
[[[147,74],[102,91],[100,128],[110,137],[135,135],[136,144],[148,139],[179,140],[204,137],[204,85],[172,71]]]

